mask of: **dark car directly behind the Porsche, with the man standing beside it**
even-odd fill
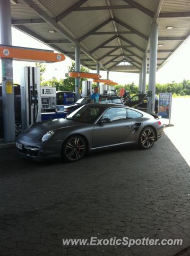
[[[64,113],[66,115],[71,114],[77,108],[80,108],[83,105],[90,103],[90,97],[84,97],[76,101],[73,105],[67,105],[64,107]],[[110,96],[110,95],[100,95],[100,102],[101,103],[114,103],[114,104],[121,104],[124,105],[123,100],[118,96]]]

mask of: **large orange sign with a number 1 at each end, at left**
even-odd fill
[[[0,58],[37,62],[59,62],[65,60],[65,55],[53,51],[0,45]]]

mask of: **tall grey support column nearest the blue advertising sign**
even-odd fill
[[[148,112],[154,113],[157,72],[158,24],[152,23],[150,31],[149,97]]]

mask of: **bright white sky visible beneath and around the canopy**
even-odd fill
[[[20,30],[12,28],[12,45],[33,47],[38,49],[52,50],[49,46],[37,41],[36,39],[22,33]],[[172,81],[181,82],[183,79],[190,80],[189,70],[190,60],[190,39],[188,39],[175,55],[157,72],[157,83],[170,83]],[[1,61],[0,61],[1,65]],[[57,79],[65,78],[68,66],[71,65],[71,59],[67,58],[59,63],[46,63],[46,72],[43,75],[44,81],[56,77]],[[33,62],[13,61],[13,81],[20,83],[21,68],[24,66],[34,66]],[[94,73],[94,70],[90,70]],[[100,71],[103,79],[106,78],[106,71]],[[1,73],[0,73],[1,78]],[[109,72],[109,79],[119,84],[133,83],[139,84],[139,74]],[[146,77],[148,84],[148,75]]]

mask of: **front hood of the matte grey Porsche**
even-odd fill
[[[61,128],[84,125],[84,123],[68,120],[64,118],[48,120],[44,122],[34,123],[29,129],[22,132],[23,135],[36,138],[46,134],[49,131],[55,131]]]

